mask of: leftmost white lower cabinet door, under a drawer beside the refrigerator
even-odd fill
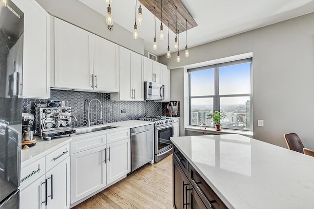
[[[42,175],[26,187],[21,184],[20,209],[45,209],[45,186],[45,175]]]

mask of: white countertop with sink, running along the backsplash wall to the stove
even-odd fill
[[[121,121],[121,122],[107,123],[103,125],[103,126],[113,125],[113,126],[118,126],[118,128],[107,129],[103,131],[97,131],[97,132],[86,133],[86,134],[81,134],[81,135],[74,134],[73,137],[56,137],[56,138],[52,138],[51,140],[45,140],[36,136],[35,138],[37,140],[37,143],[35,146],[29,147],[29,149],[22,149],[21,166],[23,167],[26,164],[32,163],[38,160],[39,158],[45,156],[49,152],[51,152],[52,148],[57,149],[63,146],[64,144],[70,143],[72,140],[75,140],[75,139],[82,139],[86,136],[95,135],[95,134],[108,134],[112,132],[122,131],[125,129],[130,129],[130,128],[144,126],[144,125],[150,125],[150,124],[154,124],[154,122],[142,121],[142,120],[127,120],[127,121]],[[96,127],[96,126],[92,126],[92,127]],[[86,127],[83,127],[83,128],[86,128]]]

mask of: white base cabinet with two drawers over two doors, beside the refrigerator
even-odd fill
[[[21,169],[20,209],[70,208],[69,144]],[[46,169],[45,169],[46,167]]]

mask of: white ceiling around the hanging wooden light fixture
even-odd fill
[[[105,0],[79,0],[106,16]],[[133,32],[136,0],[112,0],[111,15],[114,23]],[[198,46],[272,23],[314,12],[314,0],[181,0],[198,26],[187,31],[187,46]],[[137,1],[137,7],[139,1]],[[157,50],[154,51],[154,14],[144,6],[143,25],[138,26],[145,49],[156,54],[167,52],[167,27],[165,39],[158,40],[160,21],[156,19]],[[137,8],[136,8],[137,11]],[[180,29],[179,29],[180,30]],[[169,46],[174,52],[175,34],[169,30]],[[180,33],[180,50],[185,47],[185,32]]]

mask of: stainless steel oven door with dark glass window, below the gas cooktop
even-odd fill
[[[155,154],[172,147],[170,137],[173,137],[173,124],[156,127]]]

